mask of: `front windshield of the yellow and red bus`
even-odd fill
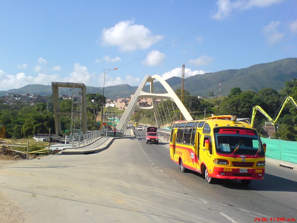
[[[214,136],[217,153],[232,154],[235,150],[234,154],[239,155],[265,155],[262,143],[255,130],[242,128],[215,128]],[[257,153],[259,148],[261,149]]]

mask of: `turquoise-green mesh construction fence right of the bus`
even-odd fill
[[[297,163],[297,142],[261,138],[266,143],[266,157]]]

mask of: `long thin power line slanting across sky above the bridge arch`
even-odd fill
[[[165,45],[165,46],[159,48],[157,51],[161,51],[162,49],[167,48],[168,46],[171,46],[171,45],[173,45],[173,44],[175,44],[175,43],[177,43],[177,42],[179,42],[179,41],[181,41],[181,40],[183,40],[183,39],[189,37],[190,35],[192,35],[192,34],[198,32],[198,31],[200,31],[201,29],[204,29],[205,27],[211,25],[212,23],[215,23],[216,21],[220,20],[221,18],[223,18],[223,17],[229,15],[230,13],[232,13],[232,12],[234,12],[235,10],[239,9],[240,7],[244,6],[244,5],[247,4],[249,1],[251,1],[251,0],[248,0],[248,1],[244,2],[243,4],[241,4],[240,6],[238,6],[238,7],[235,8],[235,9],[231,10],[231,11],[228,12],[227,14],[222,15],[221,17],[217,18],[216,20],[214,20],[214,21],[212,21],[212,22],[206,24],[205,26],[200,27],[199,29],[197,29],[197,30],[195,30],[195,31],[193,31],[193,32],[191,32],[191,33],[185,35],[184,37],[181,37],[181,38],[179,38],[178,40],[176,40],[176,41],[174,41],[174,42],[172,42],[172,43],[169,43],[168,45]],[[136,61],[138,61],[138,60],[140,60],[140,59],[145,58],[146,56],[149,56],[149,55],[153,54],[154,52],[155,52],[155,51],[152,51],[151,53],[146,54],[145,56],[141,56],[141,57],[139,57],[138,59],[132,60],[131,62],[128,62],[128,63],[126,63],[126,64],[124,64],[124,65],[122,65],[122,66],[119,66],[118,68],[125,67],[125,66],[127,66],[127,65],[129,65],[129,64],[132,64],[132,63],[134,63],[134,62],[136,62]],[[90,79],[95,78],[95,77],[98,77],[98,76],[100,76],[100,75],[103,75],[103,74],[99,74],[99,75],[97,75],[97,76],[88,78],[88,79],[83,80],[83,81],[90,80]],[[83,82],[83,81],[80,81],[80,82],[78,82],[78,83],[81,83],[81,82]]]

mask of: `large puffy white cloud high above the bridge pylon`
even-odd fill
[[[103,29],[103,45],[118,46],[121,51],[147,49],[162,40],[164,36],[151,35],[151,30],[134,21],[121,21],[109,29]]]

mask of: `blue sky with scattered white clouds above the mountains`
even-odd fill
[[[0,0],[0,10],[0,90],[102,87],[115,67],[105,86],[137,86],[146,74],[181,77],[184,63],[188,77],[297,52],[296,0]]]

